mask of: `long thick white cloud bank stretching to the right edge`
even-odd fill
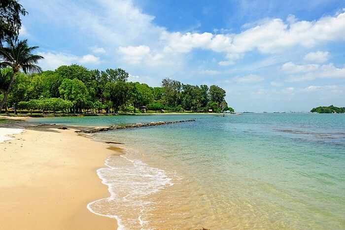
[[[345,13],[325,16],[316,21],[297,21],[289,16],[288,22],[281,19],[264,20],[259,25],[237,34],[169,33],[164,31],[161,40],[166,40],[165,50],[190,52],[194,48],[225,52],[230,60],[236,55],[252,50],[276,53],[300,45],[313,47],[320,42],[345,39]]]

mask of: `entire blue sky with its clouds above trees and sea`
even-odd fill
[[[236,111],[345,106],[345,0],[25,0],[43,69],[216,84]]]

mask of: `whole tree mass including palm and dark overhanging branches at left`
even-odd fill
[[[27,11],[17,0],[0,1],[0,112],[19,108],[65,113],[154,111],[233,111],[225,91],[216,85],[189,85],[165,78],[161,87],[128,82],[121,68],[89,70],[60,66],[42,71],[37,46],[18,40],[20,16]]]

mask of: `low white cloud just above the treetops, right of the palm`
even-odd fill
[[[91,54],[84,55],[82,57],[52,52],[38,52],[37,54],[44,57],[44,59],[38,62],[39,66],[41,66],[44,70],[54,70],[59,66],[71,65],[75,63],[98,65],[101,62],[100,58]]]

